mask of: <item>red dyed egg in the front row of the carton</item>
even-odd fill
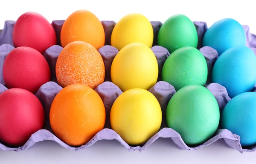
[[[44,127],[44,108],[31,92],[13,88],[0,94],[0,140],[13,147],[23,146]]]

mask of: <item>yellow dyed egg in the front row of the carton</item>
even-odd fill
[[[145,89],[129,89],[113,103],[111,128],[130,145],[145,144],[160,129],[162,111],[157,98]]]

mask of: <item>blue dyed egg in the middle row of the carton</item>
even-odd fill
[[[223,52],[212,68],[212,82],[227,89],[230,98],[249,92],[256,84],[256,56],[246,46]]]

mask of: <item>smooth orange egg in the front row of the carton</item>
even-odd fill
[[[52,101],[50,124],[54,134],[70,146],[86,144],[102,130],[106,112],[96,91],[82,84],[62,89]]]

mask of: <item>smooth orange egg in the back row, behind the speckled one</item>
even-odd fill
[[[78,10],[73,12],[61,28],[61,46],[76,40],[85,41],[96,49],[105,44],[105,32],[102,23],[92,12]]]

